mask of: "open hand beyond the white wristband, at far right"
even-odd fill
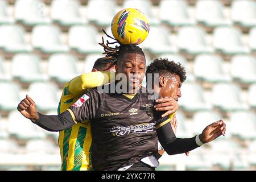
[[[226,124],[224,121],[219,120],[205,127],[203,132],[199,135],[199,139],[203,143],[208,143],[220,137],[220,135],[225,136],[225,131]]]

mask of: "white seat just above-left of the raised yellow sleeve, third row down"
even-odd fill
[[[80,74],[77,71],[77,58],[73,55],[61,53],[51,55],[51,57],[49,57],[48,73],[51,78],[62,83],[79,76]]]

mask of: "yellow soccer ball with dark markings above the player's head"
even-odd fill
[[[138,45],[147,38],[150,25],[142,11],[127,8],[114,16],[111,30],[119,43]]]

